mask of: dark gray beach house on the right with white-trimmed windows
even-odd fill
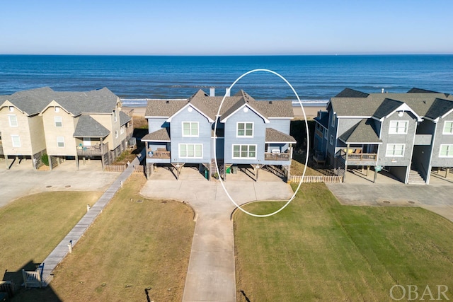
[[[404,183],[429,183],[432,170],[453,167],[453,95],[345,88],[314,120],[314,161],[338,175],[366,166]]]

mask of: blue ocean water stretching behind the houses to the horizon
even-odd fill
[[[124,105],[145,98],[188,98],[198,89],[224,95],[239,76],[270,69],[287,79],[307,105],[343,90],[406,92],[413,87],[453,93],[453,55],[339,56],[51,56],[0,55],[0,95],[50,86],[55,91],[108,87]],[[236,83],[261,100],[296,100],[285,81],[257,72]]]

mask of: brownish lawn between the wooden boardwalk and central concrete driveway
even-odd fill
[[[143,199],[133,174],[74,250],[49,289],[30,301],[181,301],[195,223],[185,204]],[[139,200],[140,202],[137,202]]]

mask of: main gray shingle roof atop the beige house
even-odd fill
[[[72,115],[81,113],[111,113],[116,108],[118,97],[108,88],[88,92],[53,91],[49,87],[18,91],[3,95],[0,100],[9,100],[19,110],[35,115],[55,100]]]

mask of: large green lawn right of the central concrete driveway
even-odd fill
[[[238,301],[391,301],[396,284],[420,296],[428,285],[434,298],[446,285],[453,299],[453,223],[424,209],[345,207],[325,185],[304,184],[277,215],[236,212],[234,234]]]

